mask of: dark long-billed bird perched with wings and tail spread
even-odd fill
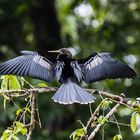
[[[0,65],[0,75],[31,76],[47,82],[56,78],[62,85],[52,99],[61,104],[94,102],[95,97],[77,85],[81,80],[91,83],[136,76],[132,68],[111,58],[109,53],[93,53],[75,60],[67,48],[49,52],[58,53],[57,58],[50,61],[37,52],[21,51],[23,55]]]

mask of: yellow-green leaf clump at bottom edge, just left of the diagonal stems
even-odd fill
[[[77,129],[70,135],[70,139],[79,140],[80,137],[83,137],[85,135],[85,132],[85,128]]]

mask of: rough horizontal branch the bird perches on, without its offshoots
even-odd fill
[[[0,90],[0,93],[4,93],[4,95],[9,96],[9,97],[24,97],[26,95],[29,95],[31,92],[34,92],[35,94],[40,94],[40,93],[55,92],[57,91],[57,89],[58,89],[57,87],[43,87],[43,88],[22,89],[22,90]],[[93,89],[85,89],[85,90],[92,94],[96,94],[96,95],[100,94],[104,97],[107,97],[113,100],[116,103],[126,105],[132,109],[140,108],[140,104],[136,102],[131,103],[130,100],[128,100],[127,98],[124,98],[119,95],[113,95],[108,92],[98,91],[98,90],[93,90]]]

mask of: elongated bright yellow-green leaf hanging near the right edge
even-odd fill
[[[134,112],[131,116],[131,123],[130,123],[130,127],[131,127],[131,130],[135,133],[136,132],[136,129],[137,129],[137,112]]]

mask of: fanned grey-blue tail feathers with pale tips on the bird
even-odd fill
[[[68,81],[61,85],[52,99],[60,104],[88,104],[94,102],[95,97],[72,81]]]

